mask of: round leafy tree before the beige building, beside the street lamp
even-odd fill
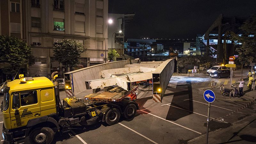
[[[53,45],[53,56],[59,63],[65,65],[66,69],[73,69],[84,51],[84,45],[73,39],[63,39]]]

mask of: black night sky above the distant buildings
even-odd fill
[[[195,39],[214,20],[256,13],[256,0],[109,0],[109,13],[133,13],[126,38]]]

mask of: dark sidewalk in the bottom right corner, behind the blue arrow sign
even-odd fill
[[[211,125],[211,123],[210,123]],[[205,134],[189,140],[190,144],[205,144]],[[253,144],[256,143],[256,114],[232,124],[232,126],[209,132],[209,144]]]

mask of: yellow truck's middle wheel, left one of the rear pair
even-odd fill
[[[108,125],[114,125],[118,122],[120,118],[120,111],[116,108],[108,110],[105,121]]]

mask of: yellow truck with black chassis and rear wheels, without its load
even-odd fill
[[[74,125],[99,121],[114,125],[121,115],[130,119],[138,109],[137,103],[125,99],[134,91],[118,101],[68,97],[61,103],[58,85],[48,78],[19,77],[6,81],[0,89],[4,93],[2,136],[10,143],[50,144],[55,133],[69,132]]]

